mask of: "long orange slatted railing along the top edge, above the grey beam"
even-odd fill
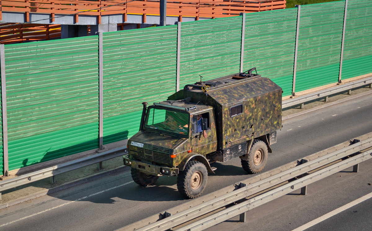
[[[129,2],[130,1],[130,2]],[[128,3],[126,3],[128,2]],[[116,5],[119,4],[119,5]],[[116,5],[116,6],[113,6]],[[100,17],[109,14],[123,14],[126,21],[127,14],[142,14],[144,22],[146,15],[159,15],[159,0],[108,0],[108,1],[83,1],[83,0],[8,0],[0,1],[0,20],[2,12],[23,12],[26,14],[26,22],[29,22],[30,13],[48,13],[50,17],[55,14],[73,14],[75,23],[79,15],[97,16],[97,24]],[[105,7],[98,9],[100,7]],[[183,16],[196,17],[230,17],[240,12],[260,12],[266,10],[284,9],[286,0],[185,0],[167,1],[167,15],[178,16],[182,22]],[[88,11],[91,10],[91,11]],[[54,22],[54,19],[51,19]]]

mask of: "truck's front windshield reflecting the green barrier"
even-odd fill
[[[188,135],[189,118],[190,115],[188,113],[149,108],[145,119],[145,127]]]

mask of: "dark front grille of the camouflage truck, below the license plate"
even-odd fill
[[[170,150],[153,147],[153,150],[137,147],[138,157],[150,162],[170,164]]]

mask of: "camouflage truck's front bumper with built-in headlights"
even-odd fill
[[[176,176],[179,173],[176,167],[166,167],[154,165],[147,162],[141,162],[134,159],[129,159],[128,155],[123,156],[124,165],[134,169],[140,170],[140,172],[151,174],[155,176]]]

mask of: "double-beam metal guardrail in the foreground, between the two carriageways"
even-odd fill
[[[372,158],[372,132],[119,229],[204,230]]]

